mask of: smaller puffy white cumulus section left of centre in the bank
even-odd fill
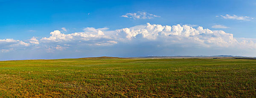
[[[71,34],[63,34],[61,31],[55,30],[51,32],[50,37],[44,37],[39,40],[44,46],[47,46],[48,52],[54,50],[64,50],[69,47],[96,45],[109,46],[117,44],[113,41],[112,36],[105,35],[104,30],[108,28],[95,29],[92,27],[84,28],[84,32],[75,32]],[[55,45],[55,46],[54,46]]]

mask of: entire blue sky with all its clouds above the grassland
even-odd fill
[[[256,57],[255,0],[0,0],[0,60]]]

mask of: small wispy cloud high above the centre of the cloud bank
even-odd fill
[[[143,11],[138,11],[136,13],[126,13],[125,15],[122,15],[121,17],[133,18],[133,19],[152,19],[152,18],[160,17],[160,16],[150,14],[147,12],[143,12]]]

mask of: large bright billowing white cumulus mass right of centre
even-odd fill
[[[237,41],[233,34],[224,31],[212,31],[203,27],[193,28],[188,25],[151,25],[141,28],[124,28],[118,30],[119,35],[125,35],[128,40],[137,38],[148,41],[160,41],[164,44],[200,45],[204,47],[241,47],[251,46],[256,48],[252,41]],[[189,43],[189,44],[188,44]],[[241,47],[242,48],[242,47]]]

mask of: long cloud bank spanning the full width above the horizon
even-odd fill
[[[50,36],[20,41],[0,40],[3,53],[51,53],[53,58],[79,56],[147,56],[147,55],[256,55],[255,39],[235,38],[224,31],[212,31],[189,25],[136,25],[108,30],[84,28],[82,32],[64,34],[59,30]],[[38,55],[37,52],[39,52]],[[185,54],[184,54],[185,53]],[[49,55],[47,55],[49,56]],[[44,58],[44,57],[42,57]],[[49,59],[49,58],[44,58]]]

